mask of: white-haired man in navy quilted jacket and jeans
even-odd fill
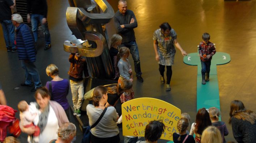
[[[21,60],[22,68],[26,71],[26,81],[21,83],[21,86],[32,86],[31,79],[35,82],[35,87],[31,89],[31,92],[36,91],[37,88],[42,86],[39,73],[35,67],[35,42],[34,36],[27,24],[23,23],[23,19],[20,14],[12,15],[12,23],[17,27],[17,51],[19,59]]]

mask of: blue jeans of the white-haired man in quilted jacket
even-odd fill
[[[37,71],[37,67],[35,67],[34,62],[28,61],[27,63],[24,60],[21,60],[22,68],[25,69],[26,74],[26,81],[25,84],[31,85],[32,84],[32,78],[35,83],[35,87],[41,87],[42,83],[40,80],[39,73]]]

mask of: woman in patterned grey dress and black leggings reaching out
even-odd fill
[[[170,91],[170,82],[172,76],[171,66],[174,64],[174,55],[176,53],[175,47],[178,48],[182,55],[187,55],[186,51],[182,49],[177,41],[177,34],[171,26],[165,22],[162,23],[160,28],[154,32],[154,50],[155,50],[155,60],[159,64],[159,72],[161,74],[161,82],[165,83],[165,78],[163,73],[165,72],[165,66],[167,69],[166,76],[166,91]],[[175,45],[175,47],[174,47]]]

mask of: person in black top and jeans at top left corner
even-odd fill
[[[12,10],[16,0],[0,0],[0,23],[3,28],[5,47],[7,52],[17,52],[14,45],[14,26],[12,24]]]

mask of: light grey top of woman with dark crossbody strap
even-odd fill
[[[87,115],[89,117],[89,125],[92,126],[101,116],[103,109],[96,108],[94,105],[86,106]],[[114,137],[119,134],[116,124],[118,115],[115,107],[108,107],[101,121],[91,129],[91,133],[98,138]]]

